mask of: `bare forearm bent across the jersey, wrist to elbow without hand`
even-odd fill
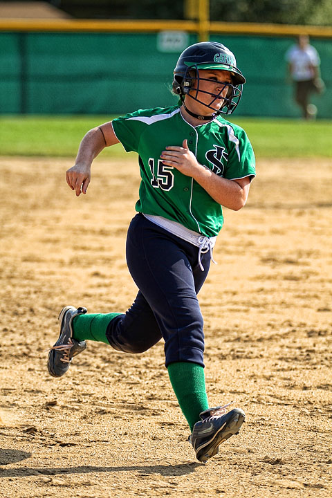
[[[246,204],[248,190],[239,183],[217,176],[207,167],[197,169],[194,180],[203,187],[217,203],[234,211],[238,211]]]

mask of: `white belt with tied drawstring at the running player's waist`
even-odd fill
[[[216,261],[214,261],[212,255],[212,248],[216,243],[216,237],[205,237],[205,235],[194,232],[194,230],[189,230],[189,228],[185,228],[185,226],[181,225],[181,223],[169,220],[167,218],[164,218],[163,216],[156,216],[155,214],[145,214],[145,213],[142,214],[149,221],[152,221],[152,223],[155,223],[161,228],[167,230],[167,232],[170,232],[176,235],[177,237],[180,237],[180,239],[192,243],[193,246],[198,247],[199,267],[201,268],[202,271],[204,271],[204,267],[201,263],[201,254],[205,254],[205,252],[210,251],[210,258],[212,259],[214,264],[217,264]]]

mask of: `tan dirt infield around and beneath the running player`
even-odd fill
[[[70,160],[1,159],[0,496],[328,497],[332,493],[332,165],[259,161],[225,210],[200,294],[210,405],[246,424],[203,465],[164,367],[89,342],[62,379],[45,352],[62,306],[125,311],[136,161],[100,157],[86,196]]]

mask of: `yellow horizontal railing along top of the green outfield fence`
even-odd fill
[[[80,32],[80,33],[156,33],[158,31],[187,31],[201,33],[201,23],[190,20],[157,19],[0,19],[0,31],[21,32]],[[205,22],[206,33],[232,35],[297,36],[332,38],[331,26],[297,26],[293,24],[259,24]]]

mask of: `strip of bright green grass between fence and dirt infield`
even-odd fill
[[[230,118],[246,130],[257,158],[332,157],[331,120]],[[0,156],[75,158],[86,131],[111,119],[111,116],[2,116]],[[120,144],[102,152],[108,157],[124,154]]]

